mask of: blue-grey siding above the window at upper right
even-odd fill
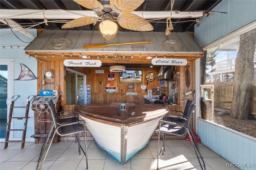
[[[195,26],[195,40],[201,46],[208,45],[250,24],[256,20],[256,0],[222,0],[213,11],[212,18],[200,20],[200,27]],[[227,12],[222,14],[219,12]]]

